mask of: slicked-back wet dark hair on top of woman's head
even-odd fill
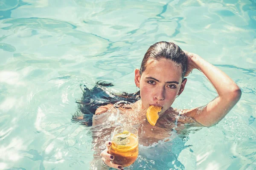
[[[149,59],[159,61],[163,58],[170,59],[177,64],[181,64],[183,79],[186,73],[186,55],[178,45],[166,41],[156,42],[148,48],[140,66],[140,74],[145,71]]]

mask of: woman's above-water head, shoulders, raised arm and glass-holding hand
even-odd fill
[[[185,88],[187,79],[184,77],[188,76],[193,69],[198,69],[209,79],[218,96],[206,106],[185,110],[172,108],[172,103]],[[173,131],[174,127],[179,132],[187,123],[192,126],[210,127],[215,125],[241,97],[240,88],[224,72],[197,54],[182,51],[180,47],[171,42],[157,42],[151,45],[143,58],[141,68],[135,70],[134,81],[136,86],[140,88],[139,93],[126,95],[128,99],[134,99],[131,101],[134,103],[114,104],[116,100],[96,108],[93,116],[93,127],[108,121],[121,124],[129,122],[129,125],[137,128],[139,141],[143,145],[164,140],[170,136],[170,131]],[[135,102],[136,95],[140,95],[140,100],[137,102]],[[146,109],[150,105],[162,107],[158,113],[160,118],[154,127],[145,119]],[[116,110],[116,108],[119,109]],[[111,120],[111,117],[117,115],[121,118]],[[105,134],[112,130],[106,129],[108,130],[105,131]],[[96,141],[95,147],[97,147],[97,142],[100,143],[100,140],[94,139]],[[111,162],[114,159],[108,153],[111,142],[107,141],[105,144],[107,148],[100,154],[102,160],[109,167],[122,169],[120,165]]]

